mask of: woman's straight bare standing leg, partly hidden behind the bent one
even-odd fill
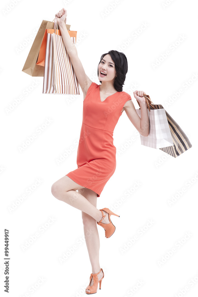
[[[97,194],[91,189],[78,189],[80,192],[92,205],[96,207],[97,203]],[[96,220],[90,215],[86,214],[82,211],[82,219],[83,219],[83,228],[85,234],[85,242],[88,249],[89,259],[91,262],[92,273],[98,273],[100,271],[99,264],[99,248],[100,248],[100,240],[98,234],[98,228],[96,224]],[[98,274],[98,280],[102,279],[103,272],[101,271]],[[93,285],[93,278],[91,279],[90,286]],[[86,290],[90,292],[90,290]]]

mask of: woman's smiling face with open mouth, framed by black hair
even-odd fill
[[[110,54],[107,54],[101,60],[100,64],[98,65],[98,73],[98,79],[100,81],[109,81],[113,80],[116,77],[115,63],[111,59]]]

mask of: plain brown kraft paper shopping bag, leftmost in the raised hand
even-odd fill
[[[44,65],[37,65],[37,58],[39,55],[40,46],[42,44],[42,40],[45,34],[46,29],[53,29],[54,22],[49,22],[47,20],[43,20],[40,28],[37,32],[37,35],[34,39],[34,42],[29,51],[26,62],[23,66],[22,71],[31,75],[31,76],[44,76]],[[69,29],[70,25],[66,25],[67,29]]]

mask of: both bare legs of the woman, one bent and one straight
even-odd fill
[[[78,192],[76,192],[76,190],[78,190]],[[51,192],[58,200],[64,201],[65,203],[68,203],[69,205],[82,211],[85,242],[91,262],[92,273],[98,273],[100,271],[100,242],[96,224],[102,219],[102,213],[96,208],[97,194],[91,189],[84,188],[75,183],[71,178],[69,178],[69,176],[63,176],[56,181],[51,187]],[[104,211],[104,215],[106,215],[106,217],[102,222],[104,224],[108,224],[109,218],[106,211]],[[98,279],[100,280],[102,277],[103,272],[101,271],[98,274]],[[90,286],[92,285],[93,279],[91,279],[90,283]],[[89,292],[89,290],[87,291]]]

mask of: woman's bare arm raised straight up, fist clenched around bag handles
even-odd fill
[[[65,19],[67,16],[67,11],[63,8],[58,13],[56,13],[55,16],[58,17],[57,22],[59,25],[59,29],[61,31],[61,36],[65,45],[66,51],[69,55],[69,58],[71,59],[72,66],[74,67],[77,80],[80,84],[83,94],[86,95],[87,90],[91,86],[92,81],[86,75],[83,65],[78,57],[76,46],[72,41],[71,37],[69,36],[69,33],[66,29]]]

